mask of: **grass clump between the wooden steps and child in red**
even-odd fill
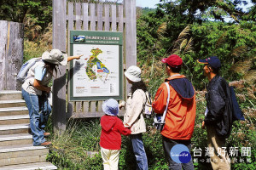
[[[97,120],[67,123],[67,131],[55,134],[48,160],[61,169],[102,169],[98,153],[101,126]]]

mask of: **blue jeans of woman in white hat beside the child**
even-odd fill
[[[143,134],[131,134],[131,144],[137,161],[137,170],[148,170],[148,159],[143,144]]]

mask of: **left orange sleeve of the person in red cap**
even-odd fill
[[[166,109],[167,97],[168,97],[168,93],[167,93],[166,84],[162,83],[160,85],[160,88],[158,88],[154,96],[154,101],[152,103],[152,107],[155,113],[157,114],[164,113]]]

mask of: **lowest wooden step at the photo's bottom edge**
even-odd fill
[[[0,167],[0,170],[48,170],[48,169],[57,169],[55,165],[50,162],[37,162],[37,163],[27,163],[20,165],[11,165]]]

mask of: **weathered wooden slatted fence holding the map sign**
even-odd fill
[[[53,48],[67,51],[67,35],[71,30],[122,31],[124,35],[124,70],[137,64],[136,0],[123,4],[67,3],[53,1]],[[67,26],[67,27],[66,27]],[[125,81],[124,94],[130,86]],[[53,89],[53,121],[55,130],[65,129],[67,116],[102,116],[102,101],[68,102],[66,115],[66,67],[55,78]]]

